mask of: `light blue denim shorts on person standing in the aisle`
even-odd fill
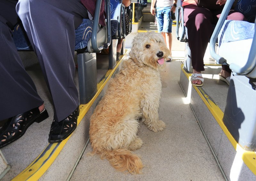
[[[156,23],[158,33],[172,33],[171,8],[172,6],[156,7]]]

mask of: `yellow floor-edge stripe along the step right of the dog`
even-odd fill
[[[207,64],[207,65],[205,64],[205,66],[212,66],[212,64]],[[216,66],[216,65],[214,65],[214,66]],[[217,65],[217,66],[221,66],[221,65]],[[190,76],[192,74],[187,73],[183,69],[183,64],[181,65],[181,70],[183,71],[183,73],[187,76],[188,80],[190,81]],[[221,129],[223,130],[223,132],[228,137],[228,139],[231,142],[231,144],[233,145],[233,147],[236,149],[236,153],[239,156],[241,156],[241,158],[243,159],[243,161],[247,165],[247,167],[256,175],[256,161],[255,161],[256,160],[256,153],[253,152],[253,151],[246,151],[246,150],[244,150],[236,142],[236,140],[229,133],[228,128],[225,126],[225,124],[222,121],[224,113],[221,111],[219,106],[217,106],[214,103],[212,98],[207,95],[207,93],[204,91],[204,89],[202,87],[198,87],[198,86],[195,86],[195,85],[193,85],[193,87],[196,90],[196,92],[198,93],[198,95],[202,98],[202,100],[204,101],[205,105],[207,106],[209,111],[212,113],[213,117],[216,119],[216,121],[218,122],[218,124],[220,125]]]

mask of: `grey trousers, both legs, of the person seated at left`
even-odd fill
[[[88,18],[86,8],[79,0],[0,1],[0,120],[43,104],[12,40],[19,18],[51,93],[54,119],[61,121],[79,105],[74,83],[75,27]]]

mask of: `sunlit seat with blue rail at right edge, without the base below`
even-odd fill
[[[231,2],[227,1],[223,8],[210,40],[210,54],[218,64],[229,64],[234,74],[247,75],[256,63],[255,57],[250,58],[255,55],[255,49],[252,49],[255,46],[255,43],[252,43],[255,39],[255,23],[226,20],[231,6]],[[219,54],[215,52],[215,41],[218,36],[221,41]],[[232,51],[235,51],[236,56],[231,55]]]

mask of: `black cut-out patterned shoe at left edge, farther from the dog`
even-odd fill
[[[18,140],[23,134],[25,134],[32,123],[40,123],[48,117],[46,109],[40,112],[38,107],[36,107],[30,111],[9,118],[0,129],[0,148]]]

